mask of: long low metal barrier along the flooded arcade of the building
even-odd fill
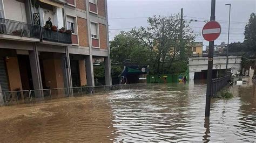
[[[65,97],[79,97],[85,95],[98,94],[111,90],[119,89],[137,89],[149,84],[118,84],[95,87],[73,87],[73,88],[55,88],[38,89],[24,91],[0,92],[0,106],[10,106],[24,103],[35,103],[39,101],[48,101],[51,99]]]

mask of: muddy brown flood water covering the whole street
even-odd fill
[[[159,84],[0,108],[0,142],[256,141],[256,87],[212,99],[206,84]]]

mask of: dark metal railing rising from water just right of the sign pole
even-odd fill
[[[215,96],[218,91],[223,89],[228,84],[229,80],[231,80],[231,75],[212,79],[211,96]]]

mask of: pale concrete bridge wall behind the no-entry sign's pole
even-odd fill
[[[228,56],[228,70],[232,74],[237,74],[241,71],[242,56]],[[226,56],[214,56],[213,58],[213,78],[220,77],[225,74]],[[191,57],[188,61],[190,72],[190,80],[199,80],[207,78],[208,57]]]

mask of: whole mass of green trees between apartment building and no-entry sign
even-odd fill
[[[184,21],[181,25],[179,14],[154,16],[147,22],[147,27],[122,32],[114,37],[110,42],[112,65],[122,65],[129,60],[138,65],[150,65],[151,74],[184,73],[196,36],[189,23]]]

